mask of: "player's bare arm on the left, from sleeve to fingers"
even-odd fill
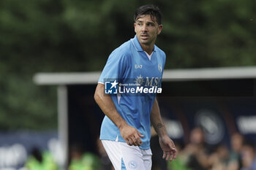
[[[102,112],[112,120],[113,123],[119,128],[121,136],[129,145],[140,146],[142,144],[140,137],[142,134],[132,126],[128,125],[123,117],[117,112],[116,106],[112,98],[104,93],[105,85],[98,83],[94,93],[94,99],[99,105]]]

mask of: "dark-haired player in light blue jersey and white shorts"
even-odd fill
[[[110,54],[99,77],[94,99],[105,113],[100,139],[116,170],[151,169],[151,124],[159,136],[162,158],[176,158],[176,147],[167,135],[156,95],[105,94],[106,80],[134,80],[147,87],[159,86],[165,66],[165,53],[154,43],[162,31],[162,14],[154,5],[135,11],[135,37]]]

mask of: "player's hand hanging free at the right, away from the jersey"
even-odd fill
[[[162,148],[162,151],[164,152],[164,154],[162,155],[163,159],[165,159],[166,161],[173,161],[173,159],[176,159],[177,150],[173,143],[173,140],[170,139],[169,136],[164,136],[162,138],[159,137],[159,144]]]

